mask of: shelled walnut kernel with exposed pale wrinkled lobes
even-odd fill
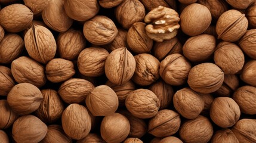
[[[174,38],[180,28],[178,13],[171,8],[162,6],[150,11],[144,21],[149,23],[145,27],[147,35],[156,42]]]

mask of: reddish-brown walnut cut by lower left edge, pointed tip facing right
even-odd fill
[[[7,100],[0,100],[0,129],[9,128],[17,118],[18,114],[11,110]]]

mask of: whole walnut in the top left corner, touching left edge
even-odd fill
[[[7,32],[21,32],[32,20],[32,11],[23,4],[11,4],[0,11],[0,24]]]

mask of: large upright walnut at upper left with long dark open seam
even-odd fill
[[[44,26],[35,25],[30,28],[24,43],[29,56],[43,64],[52,60],[57,50],[53,33]]]

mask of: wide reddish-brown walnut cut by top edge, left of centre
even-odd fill
[[[97,0],[65,0],[66,14],[73,20],[86,21],[98,13],[100,6]]]

